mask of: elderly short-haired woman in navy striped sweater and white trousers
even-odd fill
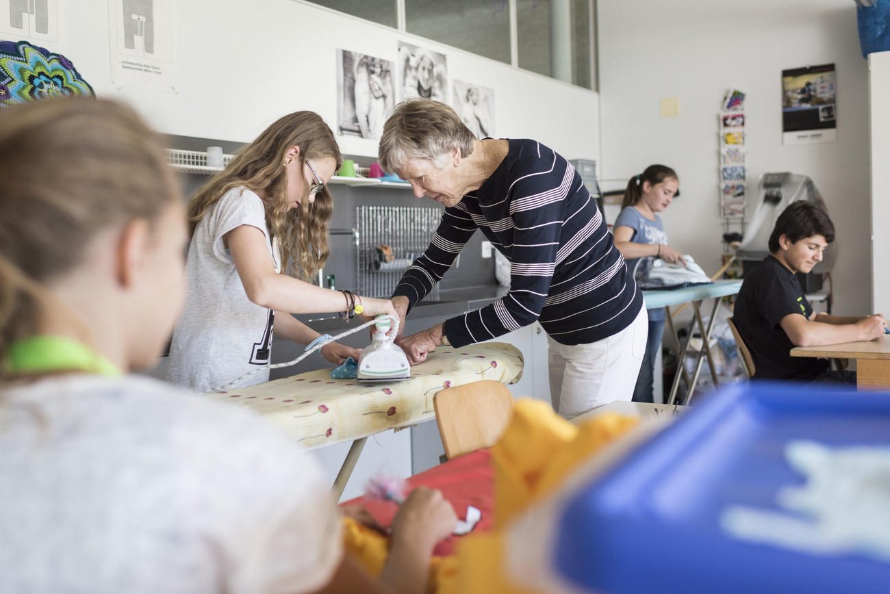
[[[646,345],[643,296],[564,158],[535,140],[476,140],[453,109],[424,99],[396,106],[379,157],[415,196],[445,206],[433,241],[392,295],[402,321],[477,228],[511,262],[503,299],[399,339],[412,364],[440,344],[487,341],[538,320],[558,413],[630,400]]]

